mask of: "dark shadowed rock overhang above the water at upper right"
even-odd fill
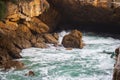
[[[112,7],[112,0],[48,0],[48,2],[64,17],[61,24],[77,25],[76,28],[94,31],[118,31],[116,25],[120,24],[118,20],[120,13],[116,12],[116,9],[119,9],[119,6]],[[107,26],[109,29],[103,30]]]

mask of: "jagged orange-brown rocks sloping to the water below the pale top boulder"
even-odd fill
[[[9,63],[11,59],[22,58],[19,54],[22,49],[46,48],[48,47],[46,43],[56,44],[58,36],[56,34],[44,35],[48,31],[49,26],[36,17],[19,23],[0,21],[0,67],[4,65],[3,62]],[[11,67],[11,65],[6,66]]]

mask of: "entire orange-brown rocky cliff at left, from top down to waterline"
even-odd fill
[[[6,4],[6,12],[0,18],[0,67],[19,69],[21,62],[12,60],[22,57],[19,54],[22,49],[46,48],[45,43],[57,43],[57,35],[47,34],[49,25],[37,18],[49,8],[46,0],[2,0],[1,3]]]

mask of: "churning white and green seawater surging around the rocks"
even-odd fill
[[[59,34],[59,42],[66,32]],[[29,48],[21,52],[23,70],[0,72],[0,80],[112,80],[114,59],[111,58],[120,40],[93,33],[83,33],[83,49],[66,50],[50,46],[46,49]],[[35,76],[25,76],[28,71]]]

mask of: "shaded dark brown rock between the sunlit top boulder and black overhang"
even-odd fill
[[[49,32],[53,32],[55,29],[57,29],[56,26],[60,23],[61,17],[61,13],[59,13],[58,10],[52,4],[50,4],[50,8],[41,14],[39,19],[49,26]]]

